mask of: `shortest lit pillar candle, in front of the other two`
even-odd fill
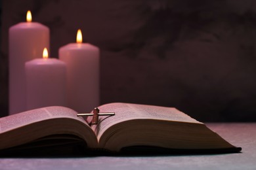
[[[27,61],[26,92],[27,110],[48,106],[66,106],[66,64],[48,58],[47,48],[43,58]]]

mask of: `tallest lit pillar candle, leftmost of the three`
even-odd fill
[[[49,49],[49,28],[32,22],[30,11],[27,22],[9,29],[9,114],[26,110],[26,61],[41,56],[43,48]]]

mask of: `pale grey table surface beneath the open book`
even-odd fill
[[[241,153],[93,158],[0,158],[0,169],[256,169],[255,123],[208,123]]]

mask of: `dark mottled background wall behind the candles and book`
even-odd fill
[[[8,29],[51,29],[51,57],[75,42],[101,50],[101,103],[177,107],[200,121],[256,121],[254,0],[2,0],[1,116],[8,107]]]

